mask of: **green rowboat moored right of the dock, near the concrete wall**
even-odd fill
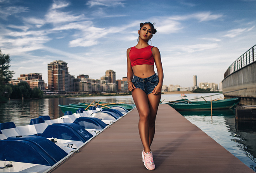
[[[240,98],[229,98],[225,100],[216,100],[212,102],[212,109],[230,109],[239,103]],[[167,103],[176,110],[210,110],[211,102],[190,102]]]

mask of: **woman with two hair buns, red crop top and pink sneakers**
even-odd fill
[[[156,114],[164,78],[159,49],[148,44],[155,33],[153,24],[140,23],[138,44],[127,49],[127,85],[140,116],[138,129],[144,147],[142,161],[148,170],[155,169],[150,145],[155,134]],[[154,63],[158,75],[154,71]]]

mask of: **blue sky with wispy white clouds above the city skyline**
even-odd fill
[[[155,23],[164,85],[221,83],[256,44],[256,0],[0,0],[0,49],[13,79],[62,60],[70,75],[127,76],[126,50],[141,22]],[[155,68],[156,72],[157,69]]]

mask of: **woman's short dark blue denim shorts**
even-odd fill
[[[148,94],[152,93],[152,91],[158,84],[159,79],[158,79],[157,74],[154,74],[154,75],[152,75],[148,78],[144,78],[144,79],[139,78],[138,76],[134,76],[131,82],[133,83],[133,85],[136,88],[140,88],[148,95]]]

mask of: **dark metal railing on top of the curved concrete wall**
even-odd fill
[[[234,73],[237,70],[240,70],[241,68],[244,68],[245,66],[253,63],[256,58],[256,44],[251,47],[246,53],[242,54],[237,60],[235,60],[234,63],[232,63],[228,70],[224,73],[224,78],[226,78],[228,75]]]

